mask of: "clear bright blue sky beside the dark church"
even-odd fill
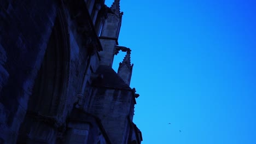
[[[142,143],[255,144],[256,2],[120,3]]]

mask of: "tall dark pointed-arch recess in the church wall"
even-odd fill
[[[69,36],[65,15],[60,9],[28,103],[28,111],[44,116],[61,116],[66,105],[68,74]]]

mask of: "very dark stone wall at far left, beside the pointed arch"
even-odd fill
[[[57,3],[1,1],[0,7],[0,141],[11,143],[26,113]]]

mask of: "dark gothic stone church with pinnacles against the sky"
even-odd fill
[[[119,5],[0,2],[0,143],[141,143]]]

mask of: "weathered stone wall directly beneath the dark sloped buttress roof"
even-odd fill
[[[94,88],[90,113],[101,119],[113,143],[126,143],[129,137],[129,116],[132,92],[126,89]]]

